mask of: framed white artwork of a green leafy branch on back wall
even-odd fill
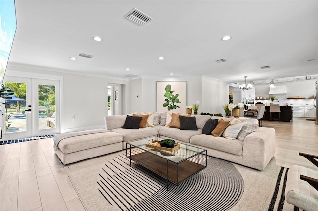
[[[171,86],[174,96],[178,94],[179,99],[179,102],[174,104],[177,107],[170,111],[166,106],[168,104],[165,96],[167,85]],[[157,112],[186,113],[186,81],[157,81]]]

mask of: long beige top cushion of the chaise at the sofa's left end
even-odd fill
[[[58,146],[64,154],[68,154],[122,141],[123,135],[110,131],[68,137],[61,140]]]

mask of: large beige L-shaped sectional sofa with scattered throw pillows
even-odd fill
[[[146,114],[145,112],[139,113],[139,114]],[[159,136],[161,138],[169,138],[173,139],[176,142],[193,145],[200,147],[202,149],[207,150],[207,154],[209,156],[215,157],[215,158],[221,158],[225,159],[231,162],[235,162],[244,166],[248,166],[251,168],[255,168],[258,170],[263,170],[271,158],[275,154],[275,130],[273,128],[266,128],[266,127],[259,127],[258,128],[258,121],[256,119],[239,119],[240,122],[246,122],[241,123],[244,124],[248,131],[248,126],[246,125],[257,125],[254,132],[251,132],[250,134],[245,134],[243,139],[240,136],[239,139],[229,139],[225,138],[223,136],[215,137],[213,135],[206,135],[202,134],[202,129],[206,122],[209,119],[218,119],[219,121],[222,121],[220,119],[224,119],[226,121],[229,121],[229,118],[222,118],[222,117],[211,117],[209,115],[196,115],[195,116],[195,122],[198,130],[180,130],[179,128],[172,128],[166,126],[167,121],[169,121],[169,116],[167,117],[167,113],[158,113],[158,112],[152,112],[148,113],[150,119],[147,124],[149,125],[146,128],[139,128],[139,129],[124,129],[123,126],[125,124],[125,120],[127,115],[121,115],[121,116],[106,116],[105,117],[105,127],[108,132],[104,133],[105,139],[109,136],[111,133],[120,134],[122,136],[121,143],[122,146],[119,149],[113,148],[113,150],[109,150],[110,147],[107,147],[107,143],[104,142],[104,146],[108,149],[105,151],[104,154],[110,153],[109,151],[118,151],[126,148],[127,142],[134,142],[141,139],[146,138],[152,138],[154,136]],[[130,114],[131,115],[131,114]],[[170,117],[171,120],[171,117]],[[244,128],[243,126],[243,128]],[[254,127],[255,128],[255,127]],[[111,131],[111,133],[109,133]],[[241,129],[243,131],[243,129]],[[225,133],[225,132],[224,132]],[[62,135],[62,134],[59,134]],[[89,136],[89,134],[88,134]],[[87,138],[87,137],[86,137]],[[76,139],[76,138],[73,138]],[[82,140],[82,139],[79,139]],[[62,140],[61,142],[67,142],[67,140]],[[118,141],[118,140],[117,140]],[[83,141],[82,141],[83,142]],[[63,149],[59,149],[60,145],[57,146],[57,149],[59,150],[57,155],[59,158],[63,158],[67,154],[66,151],[63,152]],[[94,151],[94,148],[86,146],[87,149],[84,149],[85,147],[82,147],[79,151],[82,151],[81,153],[77,153],[77,155],[84,154],[83,152],[86,150]],[[98,149],[102,149],[102,146],[99,146]],[[65,148],[65,146],[64,146]],[[61,151],[61,152],[60,152]],[[71,152],[71,151],[70,151]],[[73,152],[75,153],[75,152]],[[100,154],[100,153],[99,153]],[[99,155],[98,154],[98,155]],[[98,155],[92,155],[98,156]],[[61,157],[60,157],[61,156]],[[67,164],[63,161],[64,164]],[[77,160],[72,160],[72,162],[79,161],[86,159],[87,156],[81,158],[80,156],[77,157]],[[70,162],[69,162],[70,163]]]

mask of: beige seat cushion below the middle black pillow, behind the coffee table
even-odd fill
[[[171,139],[183,141],[183,142],[190,142],[191,136],[201,134],[202,130],[180,130],[179,128],[173,127],[163,127],[159,130],[160,136],[169,137]]]

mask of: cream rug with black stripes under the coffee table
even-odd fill
[[[130,167],[125,151],[64,168],[87,210],[293,210],[284,204],[287,169],[273,163],[258,171],[208,157],[206,169],[169,191],[162,178]]]

